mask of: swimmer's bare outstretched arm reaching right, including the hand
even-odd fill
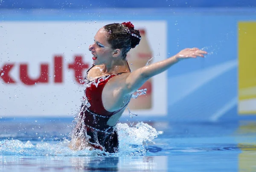
[[[188,58],[204,57],[204,54],[207,54],[207,52],[202,51],[198,48],[183,49],[175,56],[169,57],[166,60],[162,60],[160,62],[153,63],[148,66],[144,66],[142,68],[135,70],[134,72],[131,72],[131,74],[125,80],[126,94],[134,93],[150,77],[153,77],[154,75],[164,72],[165,70],[167,70],[169,67],[179,62],[180,60],[188,59]]]

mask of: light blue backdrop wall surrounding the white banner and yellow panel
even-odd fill
[[[253,118],[237,111],[237,38],[239,21],[256,21],[255,5],[254,0],[1,0],[0,20],[166,20],[170,56],[186,47],[209,54],[168,70],[168,116],[155,120],[237,120]]]

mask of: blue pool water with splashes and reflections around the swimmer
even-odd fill
[[[120,151],[71,151],[70,118],[0,119],[0,172],[256,171],[256,121],[119,123]],[[129,125],[128,125],[129,124]]]

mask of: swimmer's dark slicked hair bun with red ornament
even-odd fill
[[[140,31],[134,29],[131,22],[112,23],[103,28],[108,32],[108,43],[113,49],[122,49],[124,58],[131,48],[135,48],[140,43]]]

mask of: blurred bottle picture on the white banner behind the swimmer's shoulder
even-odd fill
[[[152,58],[152,51],[148,44],[145,29],[138,29],[140,31],[141,40],[139,45],[131,49],[127,54],[128,64],[131,72],[150,64]],[[150,61],[148,61],[150,60]],[[152,79],[147,80],[140,89],[147,89],[146,95],[140,95],[136,99],[131,99],[128,107],[129,109],[151,109],[152,107]],[[134,93],[136,95],[136,92]]]

